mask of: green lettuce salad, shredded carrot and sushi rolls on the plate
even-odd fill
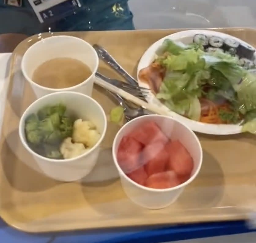
[[[198,34],[191,44],[166,39],[139,79],[182,116],[211,124],[250,122],[243,131],[256,133],[256,75],[248,69],[254,53],[218,36]]]

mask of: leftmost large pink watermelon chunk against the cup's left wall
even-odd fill
[[[117,161],[124,173],[130,173],[140,167],[139,157],[142,149],[142,144],[134,138],[122,138],[117,150]]]

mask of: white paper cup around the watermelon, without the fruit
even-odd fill
[[[133,129],[147,121],[154,121],[161,130],[171,139],[178,139],[186,147],[194,160],[194,168],[190,179],[186,182],[167,189],[153,189],[141,186],[130,179],[120,168],[117,162],[117,149],[121,139]],[[202,165],[202,147],[195,133],[169,116],[147,115],[140,116],[126,123],[117,133],[113,142],[113,159],[119,172],[123,189],[127,196],[136,204],[150,209],[165,208],[180,196],[184,188],[198,175]]]

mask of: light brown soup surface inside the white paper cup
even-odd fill
[[[59,57],[39,65],[32,75],[32,80],[47,88],[63,89],[82,83],[91,74],[91,69],[82,61]]]

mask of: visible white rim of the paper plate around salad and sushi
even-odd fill
[[[147,83],[141,82],[139,80],[139,75],[138,75],[139,70],[141,70],[142,68],[147,67],[148,65],[150,65],[150,63],[152,61],[154,61],[155,52],[158,49],[158,47],[162,45],[162,43],[165,39],[171,39],[171,40],[174,40],[174,41],[181,41],[185,44],[189,44],[189,43],[193,42],[193,37],[196,34],[204,34],[204,35],[207,35],[207,36],[215,35],[215,36],[219,36],[223,39],[232,38],[232,39],[237,40],[241,44],[246,44],[248,46],[251,46],[247,42],[244,42],[244,41],[242,41],[242,40],[240,40],[236,37],[233,37],[231,35],[227,35],[227,34],[224,34],[224,33],[221,33],[221,32],[216,32],[216,31],[210,31],[210,30],[187,30],[187,31],[180,31],[180,32],[177,32],[175,34],[165,36],[164,38],[158,40],[152,46],[150,46],[147,49],[147,51],[143,54],[143,56],[141,57],[141,59],[139,61],[139,64],[138,64],[138,70],[137,70],[137,79],[138,79],[139,86],[149,88]],[[256,54],[254,54],[254,56],[255,55]],[[154,96],[153,93],[150,93],[147,96],[147,101],[149,103],[154,103],[155,105],[164,107],[164,109],[166,109],[166,111],[169,112],[170,116],[172,116],[176,120],[179,120],[180,122],[184,123],[185,125],[190,127],[193,131],[196,131],[196,132],[201,132],[201,133],[205,133],[205,134],[216,134],[216,135],[237,134],[237,133],[242,132],[241,131],[242,126],[240,126],[240,125],[207,124],[207,123],[194,121],[194,120],[188,119],[184,116],[181,116],[181,115],[179,115],[175,112],[170,111],[165,105],[163,105]]]

